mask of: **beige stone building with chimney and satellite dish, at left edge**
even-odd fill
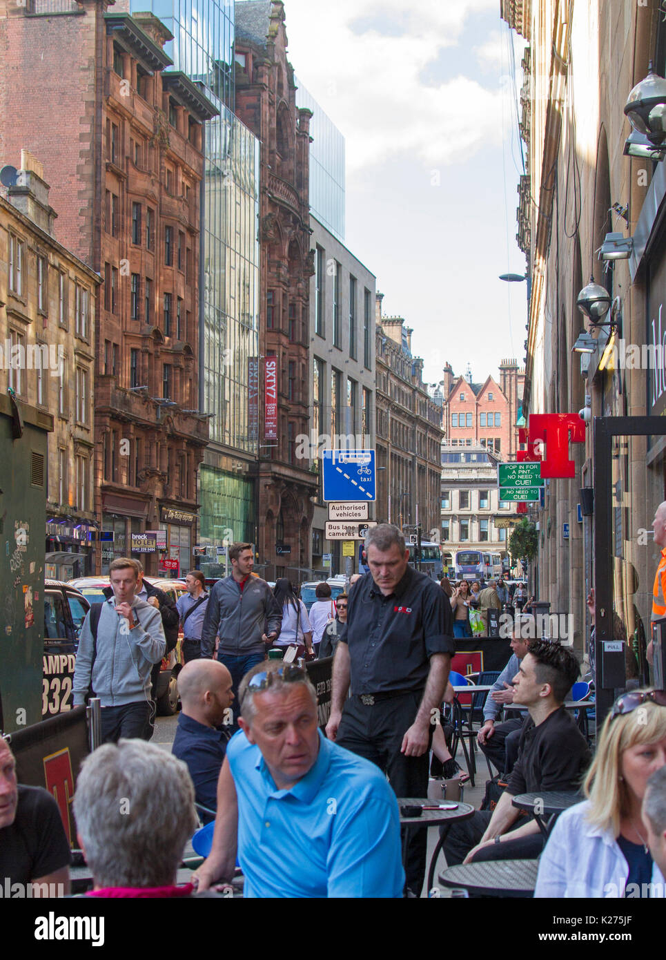
[[[18,161],[18,158],[17,158]],[[46,575],[93,572],[95,291],[100,278],[54,237],[42,164],[21,151],[0,197],[0,350],[3,383],[52,420],[46,462]],[[15,168],[13,168],[15,170]],[[52,415],[48,417],[47,415]],[[12,521],[13,522],[13,521]],[[31,536],[41,540],[42,532]],[[58,563],[59,561],[59,563]],[[77,562],[79,562],[77,564]]]

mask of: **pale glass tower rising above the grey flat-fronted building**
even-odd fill
[[[310,121],[310,211],[338,240],[345,241],[345,137],[306,87],[297,85],[297,107],[312,110]]]

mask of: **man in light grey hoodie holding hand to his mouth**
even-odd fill
[[[101,701],[105,743],[153,735],[151,670],[166,653],[166,639],[160,612],[136,596],[138,575],[139,564],[127,557],[110,564],[113,593],[96,605],[101,609],[86,613],[79,638],[74,706],[85,703],[92,687]]]

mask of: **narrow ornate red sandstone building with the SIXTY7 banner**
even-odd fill
[[[238,4],[235,20],[236,113],[261,141],[259,352],[262,364],[275,358],[277,373],[274,424],[261,382],[257,551],[267,579],[302,579],[311,566],[311,498],[318,489],[309,460],[296,456],[297,436],[309,430],[312,114],[296,106],[282,3]]]

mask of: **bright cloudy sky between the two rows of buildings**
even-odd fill
[[[345,245],[385,315],[414,329],[423,379],[523,366],[515,243],[523,41],[500,0],[285,0],[289,60],[345,135]],[[512,37],[512,39],[511,39]]]

